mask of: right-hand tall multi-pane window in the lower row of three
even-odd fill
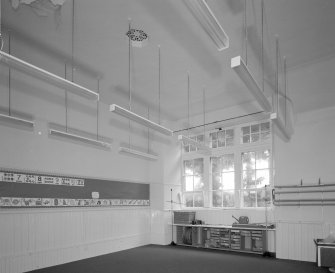
[[[244,207],[264,207],[269,201],[270,150],[242,153],[242,203]]]

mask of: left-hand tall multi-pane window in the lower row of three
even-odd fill
[[[204,159],[184,160],[184,201],[186,207],[204,206]]]

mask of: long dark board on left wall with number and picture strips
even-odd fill
[[[147,206],[149,200],[148,183],[0,169],[1,207]]]

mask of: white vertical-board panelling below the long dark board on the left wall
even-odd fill
[[[24,272],[150,243],[149,208],[0,211],[0,272]]]

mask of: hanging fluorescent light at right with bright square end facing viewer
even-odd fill
[[[254,96],[262,109],[266,112],[271,112],[272,107],[269,100],[258,86],[256,80],[251,75],[241,56],[237,56],[231,59],[231,68],[234,69],[237,75],[239,75],[241,80],[247,86],[247,89],[250,90],[251,94]]]

